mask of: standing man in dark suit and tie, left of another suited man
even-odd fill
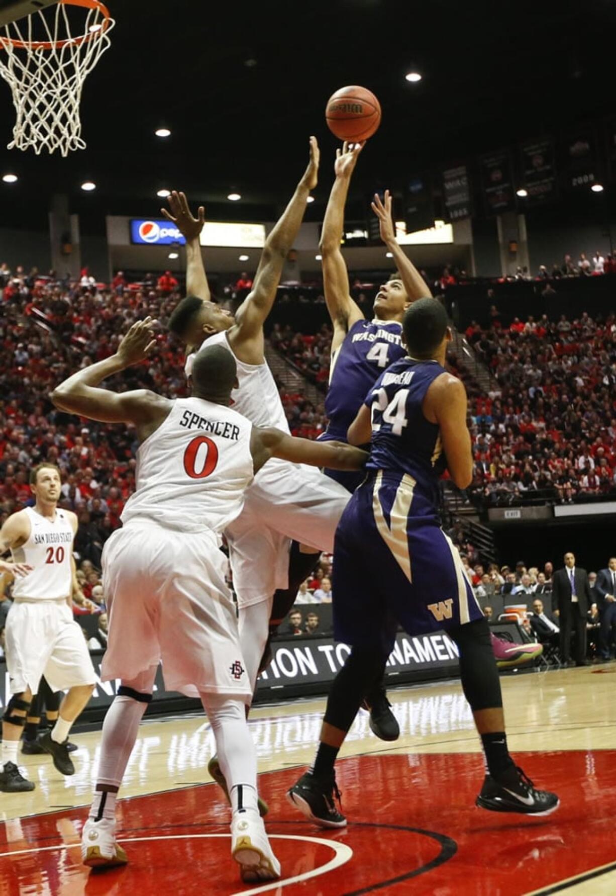
[[[576,666],[588,666],[586,659],[586,614],[592,603],[588,575],[570,551],[565,554],[565,567],[554,573],[552,600],[559,610],[560,657],[568,663],[571,632],[576,636]]]

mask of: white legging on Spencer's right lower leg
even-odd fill
[[[201,694],[201,702],[216,737],[218,762],[234,813],[240,806],[256,811],[257,751],[248,730],[244,702],[222,694]]]

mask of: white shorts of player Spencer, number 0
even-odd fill
[[[190,513],[190,511],[187,511]],[[131,680],[162,661],[169,691],[252,698],[227,558],[213,532],[134,520],[103,550],[109,633],[101,678]]]

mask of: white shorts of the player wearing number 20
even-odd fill
[[[16,600],[6,617],[6,668],[11,694],[95,685],[88,644],[65,600]]]

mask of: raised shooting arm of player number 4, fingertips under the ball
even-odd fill
[[[355,170],[359,153],[364,143],[344,143],[342,150],[336,151],[334,171],[336,180],[329,194],[321,231],[321,267],[323,269],[323,290],[328,306],[334,335],[331,351],[335,352],[349,329],[364,318],[359,306],[353,301],[348,284],[347,263],[340,251],[340,243],[345,227],[345,205],[351,175]]]

